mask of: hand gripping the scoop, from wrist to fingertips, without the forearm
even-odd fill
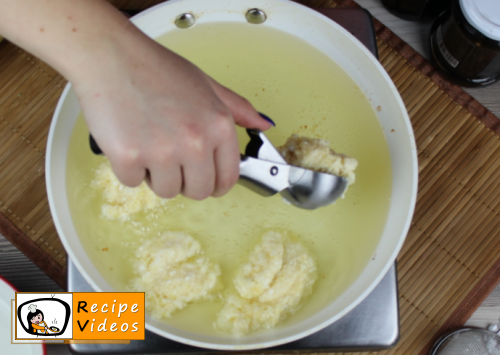
[[[139,63],[122,57],[123,72],[99,77],[97,91],[88,78],[75,85],[91,132],[125,185],[146,179],[165,198],[222,196],[239,177],[235,123],[270,124],[183,58],[163,47],[148,54]]]

